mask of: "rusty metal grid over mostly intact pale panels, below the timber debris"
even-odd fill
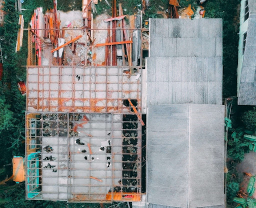
[[[27,111],[132,113],[125,99],[136,99],[141,112],[141,67],[28,66]],[[75,76],[78,75],[80,79]]]

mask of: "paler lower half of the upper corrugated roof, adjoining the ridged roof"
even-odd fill
[[[147,105],[221,104],[221,57],[148,57]]]

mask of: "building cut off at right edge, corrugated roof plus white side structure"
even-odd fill
[[[240,105],[256,105],[255,23],[256,2],[241,0],[237,67],[237,102]]]

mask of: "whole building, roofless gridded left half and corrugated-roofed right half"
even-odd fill
[[[89,0],[68,20],[55,2],[34,11],[26,199],[224,207],[221,20],[148,30],[112,7],[95,19]]]

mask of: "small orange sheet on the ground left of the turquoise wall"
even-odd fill
[[[13,181],[16,182],[22,182],[25,180],[23,157],[20,156],[12,158],[12,176]]]

